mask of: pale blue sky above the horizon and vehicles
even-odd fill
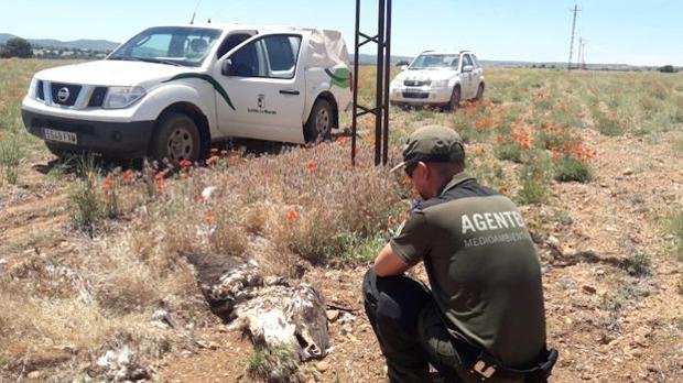
[[[362,0],[376,30],[377,0]],[[0,0],[0,32],[29,39],[123,42],[159,23],[187,22],[196,0]],[[340,30],[353,50],[355,0],[202,0],[197,21]],[[566,62],[566,0],[393,0],[392,53],[469,48],[485,59]],[[587,63],[683,66],[683,1],[584,0],[577,36]],[[576,55],[576,48],[575,48]]]

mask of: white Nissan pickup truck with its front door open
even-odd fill
[[[35,74],[22,118],[57,155],[196,161],[231,136],[328,136],[350,108],[350,77],[337,31],[154,26],[104,61]]]

